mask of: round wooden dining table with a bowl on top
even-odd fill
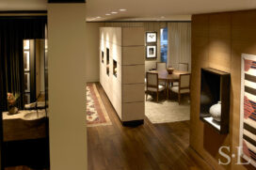
[[[187,74],[188,71],[173,70],[172,73],[168,73],[168,70],[150,70],[149,72],[158,73],[158,80],[165,81],[167,85],[167,99],[168,99],[168,86],[174,82],[180,81],[180,74]]]

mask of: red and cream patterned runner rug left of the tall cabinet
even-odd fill
[[[87,85],[87,126],[112,125],[95,84]]]

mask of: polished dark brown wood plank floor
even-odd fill
[[[212,169],[189,147],[189,121],[123,127],[97,88],[113,125],[88,128],[88,170]]]

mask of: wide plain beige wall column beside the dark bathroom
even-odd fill
[[[87,170],[86,4],[48,4],[51,170]]]

